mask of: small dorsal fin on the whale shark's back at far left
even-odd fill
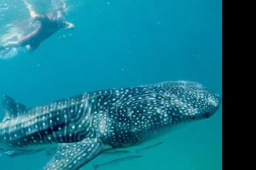
[[[23,114],[23,112],[27,109],[24,104],[16,102],[8,95],[3,95],[3,108],[5,110],[3,122],[16,118],[20,114]]]

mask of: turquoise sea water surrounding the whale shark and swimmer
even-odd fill
[[[52,9],[48,0],[28,2],[40,12]],[[96,89],[177,80],[222,93],[221,1],[69,0],[67,7],[75,30],[60,30],[32,54],[0,60],[0,95],[33,107]],[[21,0],[0,0],[1,41],[22,33],[28,20]],[[175,128],[141,158],[100,169],[222,169],[221,114],[220,108],[211,119]],[[82,169],[117,157],[99,156]],[[40,169],[50,158],[2,156],[0,169]]]

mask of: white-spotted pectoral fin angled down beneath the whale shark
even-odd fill
[[[103,142],[97,138],[86,138],[81,142],[61,144],[52,160],[43,169],[76,170],[92,161],[104,150]]]

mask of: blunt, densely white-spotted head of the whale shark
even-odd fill
[[[179,81],[162,84],[174,123],[206,119],[217,112],[221,98],[199,83]]]

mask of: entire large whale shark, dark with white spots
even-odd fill
[[[138,146],[175,125],[209,118],[220,104],[219,95],[188,81],[92,91],[35,108],[4,95],[0,152],[2,145],[14,156],[58,146],[43,169],[80,169],[107,150]]]

